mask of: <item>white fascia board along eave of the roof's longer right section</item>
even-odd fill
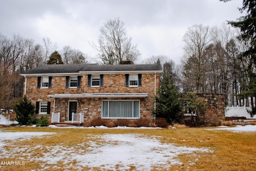
[[[156,71],[80,71],[81,74],[159,74],[162,70]]]

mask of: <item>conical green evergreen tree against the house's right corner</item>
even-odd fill
[[[170,85],[170,80],[166,74],[164,74],[154,100],[156,102],[156,110],[154,111],[156,117],[165,118],[170,124],[180,121],[183,100],[180,98],[178,87],[174,84]]]

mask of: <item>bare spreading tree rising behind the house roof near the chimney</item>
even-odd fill
[[[100,28],[98,44],[92,42],[91,46],[98,51],[102,64],[119,64],[122,60],[134,63],[140,56],[137,45],[132,44],[132,38],[127,36],[124,23],[119,18],[108,20]]]

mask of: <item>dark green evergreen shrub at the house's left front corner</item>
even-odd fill
[[[18,121],[20,125],[27,125],[35,111],[34,109],[35,106],[31,103],[31,101],[28,101],[26,96],[24,96],[20,103],[14,105],[16,121]]]

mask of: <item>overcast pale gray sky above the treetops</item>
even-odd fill
[[[194,24],[220,27],[241,16],[242,0],[0,0],[0,33],[20,34],[42,43],[48,37],[58,45],[95,56],[89,42],[97,42],[100,27],[109,19],[124,22],[142,58],[182,57],[182,38]]]

